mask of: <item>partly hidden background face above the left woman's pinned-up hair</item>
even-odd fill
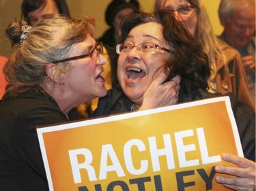
[[[58,15],[59,10],[55,1],[46,0],[46,3],[43,3],[37,10],[29,12],[27,16],[31,22],[31,25],[33,26],[36,22],[39,22],[44,18],[52,18]]]

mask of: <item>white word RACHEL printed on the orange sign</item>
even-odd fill
[[[210,164],[214,162],[220,162],[221,156],[209,156],[208,147],[206,144],[205,133],[203,128],[197,128],[197,138],[196,140],[199,143],[199,150],[201,152],[201,161],[203,164]],[[160,171],[160,156],[166,157],[167,167],[168,169],[175,169],[174,156],[177,156],[179,167],[193,167],[199,165],[199,158],[195,158],[195,160],[186,160],[186,153],[193,152],[197,150],[195,144],[184,144],[184,139],[186,137],[192,137],[194,135],[194,131],[192,129],[187,131],[180,131],[174,133],[175,137],[175,145],[177,147],[177,154],[173,154],[173,145],[171,143],[171,135],[165,134],[162,135],[162,140],[164,142],[164,148],[158,148],[156,137],[148,137],[148,149],[143,141],[140,139],[131,139],[126,141],[124,144],[124,161],[119,162],[118,155],[115,153],[112,144],[102,145],[102,152],[100,158],[100,172],[99,172],[99,180],[106,179],[107,173],[115,172],[118,177],[124,177],[124,169],[132,174],[132,175],[142,175],[148,170],[149,160],[141,160],[139,161],[140,167],[135,169],[134,161],[137,160],[136,156],[132,156],[132,147],[137,147],[139,153],[142,152],[150,152],[151,161],[152,161],[152,169],[153,171]],[[78,156],[82,155],[85,158],[85,161],[79,163]],[[81,170],[85,169],[87,171],[88,177],[90,181],[96,181],[96,172],[95,168],[91,165],[93,161],[93,154],[87,148],[80,148],[76,150],[69,151],[70,156],[70,164],[72,168],[72,173],[74,177],[74,183],[81,183]],[[197,156],[195,156],[197,157]],[[138,161],[137,161],[138,162]],[[122,167],[121,164],[125,164]]]

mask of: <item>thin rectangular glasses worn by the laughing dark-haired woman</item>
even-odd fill
[[[173,52],[173,50],[169,50],[152,42],[141,43],[138,45],[117,44],[116,52],[117,54],[126,54],[130,52],[130,50],[132,50],[134,47],[137,47],[137,50],[142,54],[153,54],[156,52],[156,49],[164,50],[165,52]]]

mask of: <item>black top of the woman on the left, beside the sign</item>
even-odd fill
[[[0,101],[0,190],[48,190],[35,126],[66,122],[57,103],[42,92],[5,95]]]

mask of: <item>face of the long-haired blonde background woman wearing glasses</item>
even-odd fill
[[[177,20],[180,20],[186,29],[195,37],[197,29],[197,11],[188,1],[184,0],[161,0],[161,10],[171,10]]]

